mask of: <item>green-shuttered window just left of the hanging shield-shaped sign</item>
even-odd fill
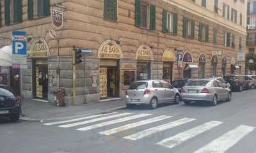
[[[28,0],[28,20],[50,15],[49,0]]]

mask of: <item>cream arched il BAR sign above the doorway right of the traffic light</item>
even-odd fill
[[[120,50],[112,42],[106,43],[100,50],[101,58],[120,58]]]

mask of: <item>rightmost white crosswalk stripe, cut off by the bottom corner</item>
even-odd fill
[[[194,153],[224,153],[254,129],[255,127],[252,126],[238,126],[237,128],[228,131],[228,133],[225,133],[219,138],[208,143],[201,149],[196,150]]]

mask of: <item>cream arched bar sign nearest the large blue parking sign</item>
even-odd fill
[[[30,55],[36,57],[44,57],[49,55],[49,47],[46,41],[42,38],[35,40],[31,45]]]

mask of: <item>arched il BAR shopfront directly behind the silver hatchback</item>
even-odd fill
[[[153,54],[151,48],[147,45],[141,45],[136,52],[137,80],[147,80],[151,78],[152,59]]]

